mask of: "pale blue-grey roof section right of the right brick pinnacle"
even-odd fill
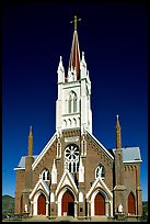
[[[123,149],[123,163],[141,163],[139,147],[125,147]],[[115,149],[113,149],[114,153]]]

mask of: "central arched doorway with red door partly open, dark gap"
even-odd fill
[[[62,195],[61,215],[74,216],[74,197],[70,191]]]

